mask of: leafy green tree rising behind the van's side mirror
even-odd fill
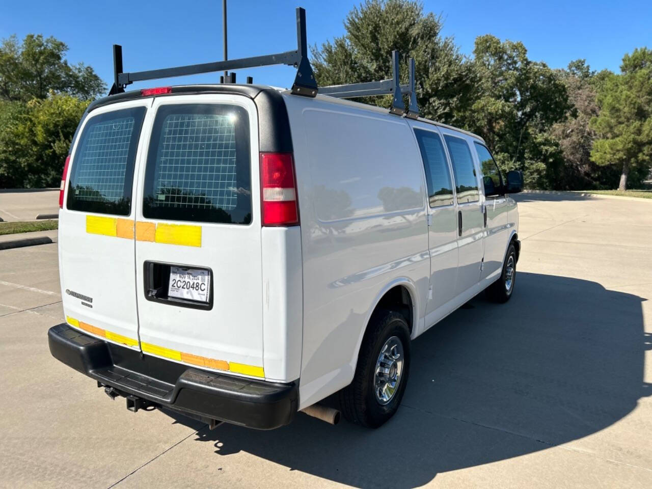
[[[564,83],[545,63],[531,61],[521,42],[476,38],[478,95],[467,127],[484,138],[505,170],[524,170],[526,186],[554,188],[561,150],[546,132],[571,108]],[[578,67],[579,68],[579,67]]]

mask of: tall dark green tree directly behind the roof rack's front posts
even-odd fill
[[[424,14],[417,1],[366,0],[346,16],[344,36],[312,47],[315,76],[319,85],[391,78],[391,52],[399,50],[402,83],[408,81],[408,57],[415,58],[421,114],[460,124],[473,100],[474,71],[452,38],[441,37],[441,27],[441,18]],[[389,107],[391,97],[377,103]]]

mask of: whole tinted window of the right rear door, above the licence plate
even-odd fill
[[[228,104],[173,104],[156,113],[143,216],[249,224],[249,118]]]

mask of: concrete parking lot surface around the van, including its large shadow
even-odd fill
[[[0,486],[649,489],[652,201],[518,200],[511,301],[479,295],[417,338],[378,430],[127,411],[50,356],[57,245],[0,251]]]

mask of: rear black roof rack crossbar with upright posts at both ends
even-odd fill
[[[297,75],[292,85],[292,93],[296,95],[317,95],[317,82],[308,61],[308,43],[306,37],[306,11],[297,8],[297,50],[284,53],[268,54],[240,59],[201,63],[183,67],[162,68],[159,70],[123,72],[122,48],[113,44],[114,83],[109,95],[125,91],[126,85],[143,80],[156,80],[173,76],[186,76],[200,73],[210,73],[240,68],[254,68],[269,65],[289,65],[297,67]]]

